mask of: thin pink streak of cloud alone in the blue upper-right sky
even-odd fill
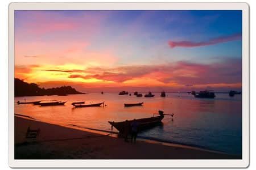
[[[175,47],[185,47],[185,48],[192,48],[196,46],[207,46],[207,45],[215,45],[215,44],[220,44],[222,42],[228,42],[228,41],[236,41],[236,40],[241,40],[242,39],[242,34],[241,33],[236,33],[233,35],[228,35],[228,36],[221,36],[217,37],[214,39],[210,39],[208,41],[169,41],[168,44],[171,48]]]

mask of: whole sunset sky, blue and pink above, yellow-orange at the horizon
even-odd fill
[[[83,92],[241,89],[242,11],[15,11],[15,78]]]

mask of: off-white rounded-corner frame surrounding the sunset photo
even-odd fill
[[[242,10],[242,159],[14,159],[15,10]],[[249,5],[247,3],[10,3],[9,5],[9,166],[13,168],[246,168],[249,166]]]

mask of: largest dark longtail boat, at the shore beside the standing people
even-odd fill
[[[164,115],[171,115],[171,114],[163,114],[163,111],[158,111],[159,116],[153,116],[153,117],[148,117],[148,118],[139,118],[136,121],[138,122],[138,130],[142,131],[144,129],[152,128],[156,125],[161,124],[162,119],[164,118]],[[131,123],[134,120],[128,120],[128,125],[131,126]],[[114,126],[115,129],[119,131],[119,133],[123,133],[125,130],[125,126],[127,126],[126,121],[122,122],[111,122],[109,121],[109,124]]]

